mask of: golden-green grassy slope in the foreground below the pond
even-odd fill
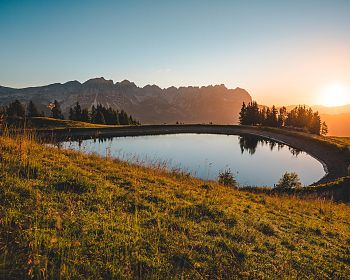
[[[0,178],[0,278],[350,277],[349,205],[4,137]]]

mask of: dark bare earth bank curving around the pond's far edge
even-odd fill
[[[174,133],[210,133],[210,134],[250,134],[265,137],[293,148],[303,150],[319,160],[326,175],[314,184],[327,183],[347,176],[349,158],[334,146],[327,145],[313,138],[299,136],[293,133],[270,131],[258,127],[243,127],[237,125],[144,125],[116,128],[71,128],[60,130],[44,130],[40,135],[59,140],[88,139],[94,137],[141,136]]]

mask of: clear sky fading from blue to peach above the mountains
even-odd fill
[[[350,103],[350,0],[0,0],[0,85],[93,77]]]

